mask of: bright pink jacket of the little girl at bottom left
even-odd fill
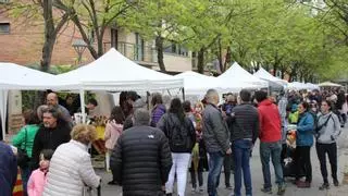
[[[33,171],[27,184],[28,196],[41,196],[46,183],[47,175],[40,169]]]

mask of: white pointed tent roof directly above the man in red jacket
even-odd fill
[[[256,87],[268,87],[268,83],[253,76],[246,70],[244,70],[237,62],[233,63],[233,65],[226,70],[222,75],[217,78],[223,81],[224,83],[244,83],[251,84]]]

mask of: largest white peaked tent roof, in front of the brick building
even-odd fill
[[[96,61],[58,77],[82,84],[87,90],[171,89],[184,85],[183,79],[138,65],[114,48]]]

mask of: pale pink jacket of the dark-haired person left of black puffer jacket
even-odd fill
[[[115,121],[109,121],[105,127],[105,148],[113,149],[120,135],[122,134],[123,125],[117,124]]]

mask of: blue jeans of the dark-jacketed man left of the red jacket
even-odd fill
[[[252,195],[251,173],[249,164],[251,146],[251,140],[246,139],[238,139],[233,143],[233,155],[235,162],[235,196],[241,195],[241,171],[244,174],[246,195]]]

